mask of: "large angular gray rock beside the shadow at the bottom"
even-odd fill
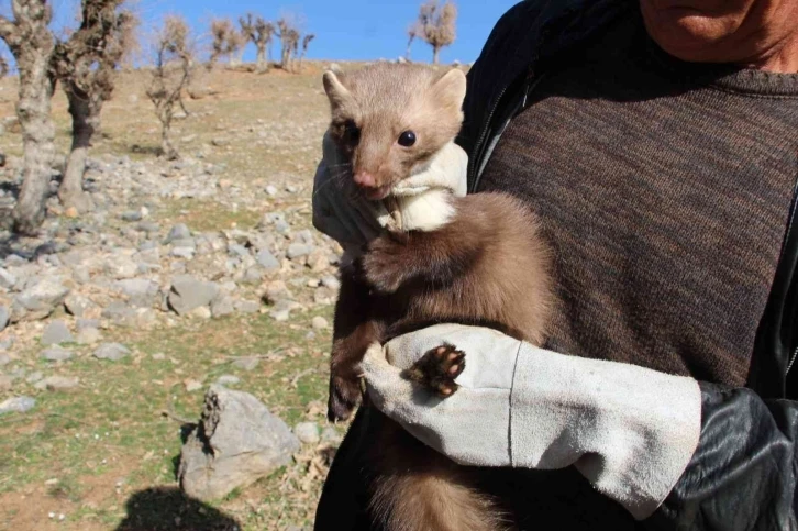
[[[201,425],[180,453],[182,490],[197,499],[220,499],[287,465],[300,447],[279,418],[254,396],[211,386]]]

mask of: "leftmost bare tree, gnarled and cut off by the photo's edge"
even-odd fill
[[[13,20],[0,16],[0,38],[8,44],[20,71],[16,117],[22,126],[24,163],[14,225],[21,233],[33,234],[44,221],[55,155],[51,118],[55,77],[49,67],[55,38],[47,27],[53,13],[46,0],[12,0],[11,12]]]

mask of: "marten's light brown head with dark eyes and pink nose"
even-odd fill
[[[378,200],[457,135],[466,77],[457,69],[379,64],[326,71],[324,90],[331,136],[350,159],[355,185]]]

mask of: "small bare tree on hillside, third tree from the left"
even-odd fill
[[[160,154],[169,159],[179,155],[169,140],[171,123],[179,107],[187,115],[182,101],[184,90],[191,80],[192,51],[189,29],[181,16],[169,15],[155,36],[155,68],[147,88],[147,97],[155,106],[160,121]]]

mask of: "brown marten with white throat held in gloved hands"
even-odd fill
[[[392,226],[341,267],[335,307],[329,418],[350,417],[362,396],[359,362],[375,342],[434,323],[497,329],[541,345],[553,306],[551,252],[534,213],[497,192],[454,197],[437,190],[419,206],[394,197],[454,142],[463,123],[466,76],[420,65],[376,64],[326,71],[331,139],[347,178],[366,199],[385,201],[409,226]],[[402,209],[426,209],[404,212]],[[412,214],[412,215],[408,215]],[[403,376],[441,397],[457,390],[468,345],[428,352]],[[481,531],[508,526],[474,480],[381,413],[369,442],[369,512],[389,531]]]

